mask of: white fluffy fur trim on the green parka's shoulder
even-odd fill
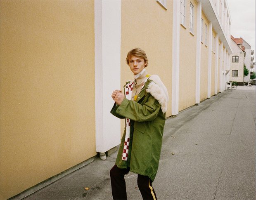
[[[152,96],[154,96],[154,98],[161,105],[163,113],[166,113],[167,103],[169,101],[168,91],[158,75],[151,75],[149,79],[152,81],[149,83],[146,92],[149,92]]]

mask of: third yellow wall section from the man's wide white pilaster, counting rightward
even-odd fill
[[[209,21],[206,18],[204,12],[202,12],[202,19],[203,19],[203,31],[202,31],[203,40],[201,41],[200,101],[207,99],[208,60],[209,60],[209,52],[208,52],[209,51]],[[207,27],[205,25],[207,25]],[[206,37],[206,43],[205,43],[205,37]]]

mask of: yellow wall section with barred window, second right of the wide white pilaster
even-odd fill
[[[194,31],[190,33],[190,1],[185,1],[185,26],[180,25],[179,111],[195,104],[197,54],[197,2],[194,5]]]

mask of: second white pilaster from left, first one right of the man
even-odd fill
[[[179,113],[180,1],[173,1],[172,115]]]

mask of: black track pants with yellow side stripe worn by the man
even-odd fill
[[[129,171],[130,169],[120,169],[116,165],[110,170],[111,189],[114,200],[127,199],[124,175]],[[137,184],[144,200],[156,200],[156,193],[148,176],[138,174]]]

